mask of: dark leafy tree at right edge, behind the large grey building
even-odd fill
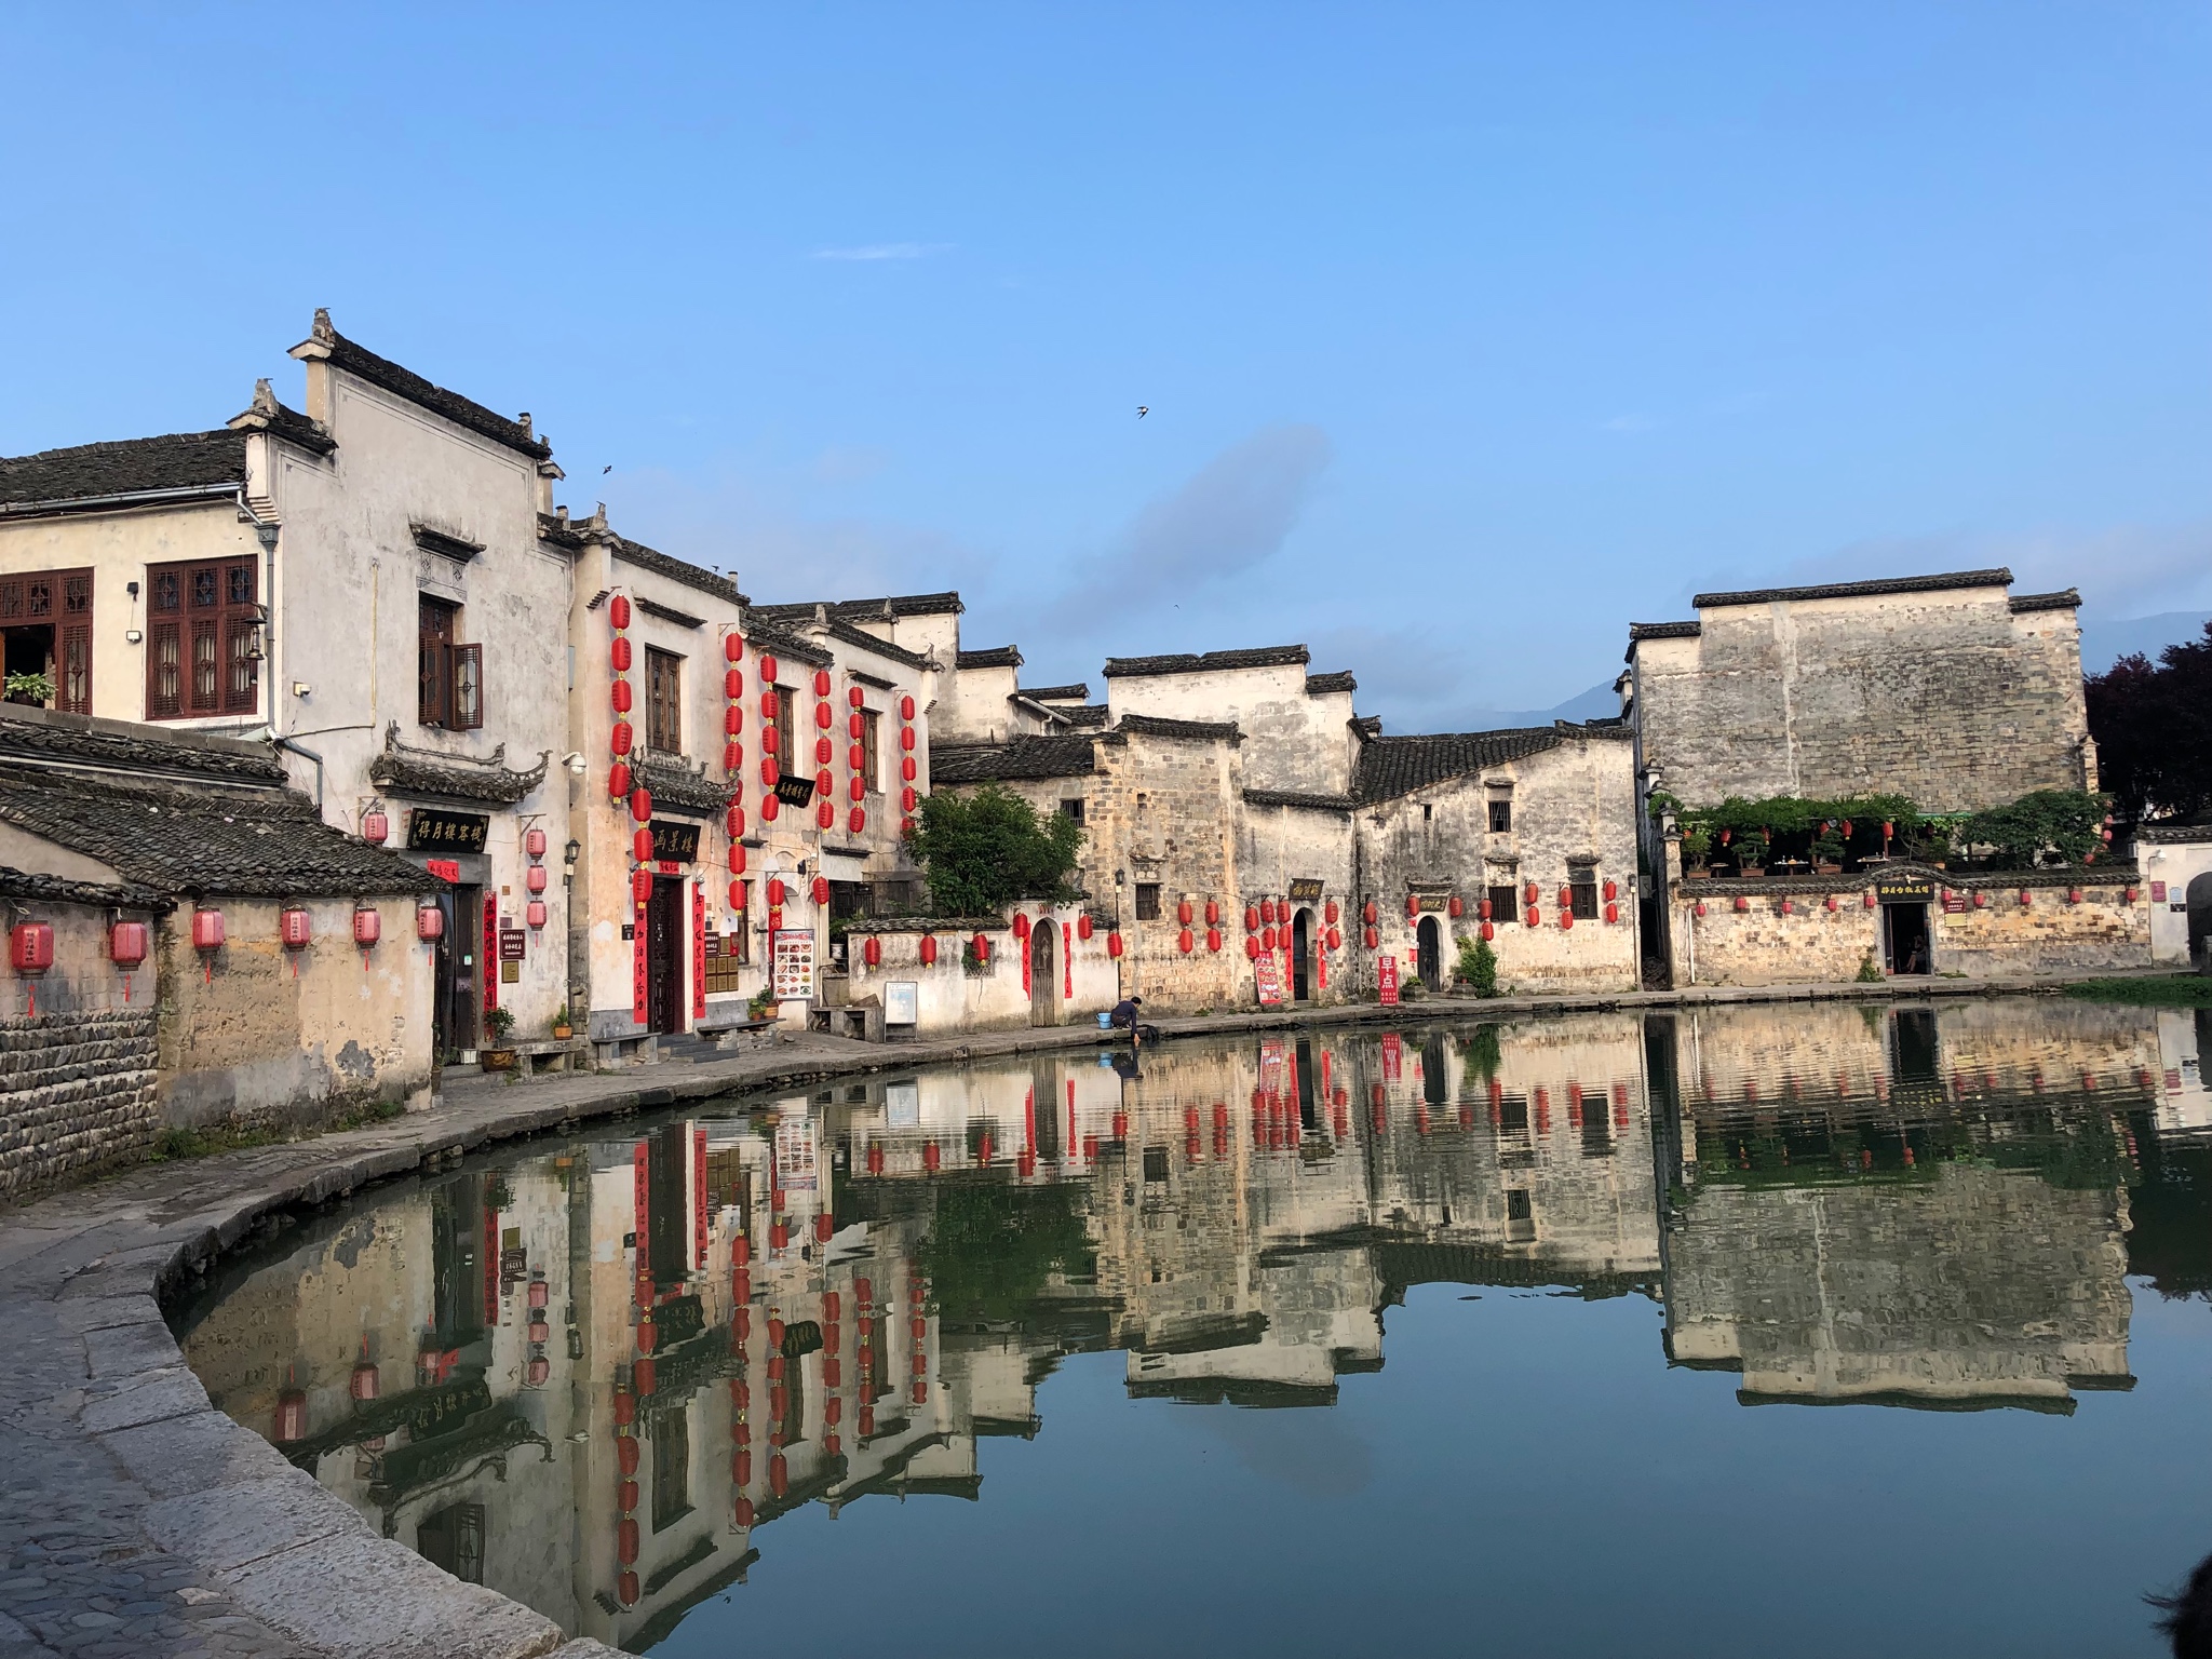
[[[2130,818],[2212,810],[2212,622],[2203,639],[2086,679],[2097,774]]]

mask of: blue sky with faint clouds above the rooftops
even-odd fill
[[[2212,608],[2205,4],[86,4],[0,60],[0,453],[296,398],[330,305],[754,597],[958,586],[1095,690],[1307,639],[1394,730],[1708,586]]]

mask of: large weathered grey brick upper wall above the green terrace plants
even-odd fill
[[[2073,611],[2000,586],[1717,606],[1635,648],[1641,765],[1690,805],[1905,794],[1975,812],[2095,787]]]

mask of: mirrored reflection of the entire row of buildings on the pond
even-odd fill
[[[841,1084],[425,1183],[248,1276],[186,1349],[387,1535],[633,1648],[799,1504],[978,1498],[980,1440],[1040,1431],[1064,1354],[1126,1349],[1137,1396],[1325,1402],[1427,1281],[1648,1292],[1663,1256],[1670,1352],[1752,1400],[2124,1380],[2124,1152],[2097,1126],[2146,1020],[2066,1013],[2068,1046],[1980,1004],[1907,1013]]]

